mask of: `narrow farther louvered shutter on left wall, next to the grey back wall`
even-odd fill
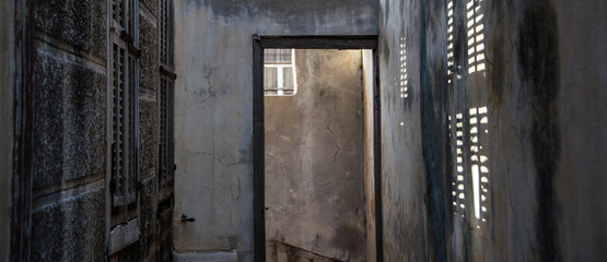
[[[173,1],[160,1],[160,88],[159,88],[159,203],[173,195],[175,165],[173,162],[173,102],[175,73],[173,72]]]

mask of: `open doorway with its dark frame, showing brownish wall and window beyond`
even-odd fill
[[[254,36],[256,261],[382,261],[376,43]]]

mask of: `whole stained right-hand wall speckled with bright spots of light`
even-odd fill
[[[380,1],[386,260],[602,260],[606,3],[468,2]]]

